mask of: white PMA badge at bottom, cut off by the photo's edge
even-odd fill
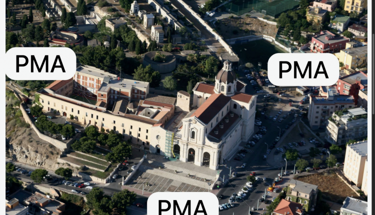
[[[218,215],[211,192],[155,192],[147,200],[147,215]]]

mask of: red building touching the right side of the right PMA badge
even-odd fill
[[[352,95],[355,104],[357,104],[358,92],[367,89],[367,74],[363,71],[356,71],[340,77],[337,80],[336,88],[341,95]]]

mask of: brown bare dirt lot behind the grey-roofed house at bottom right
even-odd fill
[[[357,197],[357,194],[333,170],[300,176],[297,180],[317,185],[317,188],[323,194],[322,197],[334,202],[339,199],[344,200],[346,196]]]

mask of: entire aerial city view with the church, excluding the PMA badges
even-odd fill
[[[155,192],[211,192],[220,215],[368,214],[367,0],[5,7],[5,51],[76,55],[70,79],[6,76],[5,214],[143,215]],[[274,85],[275,53],[333,54],[339,78]]]

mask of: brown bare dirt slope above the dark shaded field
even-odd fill
[[[274,37],[278,29],[276,25],[268,24],[257,18],[240,16],[217,20],[215,27],[224,39],[248,35],[269,35]]]

